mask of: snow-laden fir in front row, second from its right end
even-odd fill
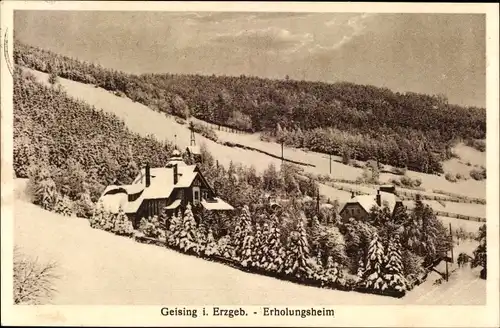
[[[368,258],[362,279],[362,283],[366,288],[387,289],[387,282],[384,280],[384,262],[384,248],[379,241],[378,233],[374,232],[368,247]]]

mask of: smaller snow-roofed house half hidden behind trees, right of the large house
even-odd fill
[[[387,190],[392,192],[387,192]],[[384,205],[387,205],[391,213],[394,214],[398,207],[403,207],[403,202],[394,192],[395,189],[393,186],[382,186],[377,190],[376,195],[355,196],[353,193],[351,199],[344,204],[339,214],[343,220],[350,218],[366,220],[373,207],[382,209]]]

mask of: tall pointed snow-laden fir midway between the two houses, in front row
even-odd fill
[[[295,231],[288,240],[288,252],[285,259],[284,272],[297,278],[307,278],[311,268],[309,261],[309,244],[307,242],[304,223],[299,220]]]

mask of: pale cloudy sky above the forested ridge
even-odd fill
[[[482,14],[16,11],[14,33],[129,73],[288,75],[486,102]]]

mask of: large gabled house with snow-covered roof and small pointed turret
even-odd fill
[[[217,197],[197,165],[187,165],[176,149],[165,167],[146,165],[130,185],[110,185],[100,197],[104,209],[117,213],[120,207],[135,228],[141,218],[170,215],[190,203],[209,211],[230,211],[234,208]]]

